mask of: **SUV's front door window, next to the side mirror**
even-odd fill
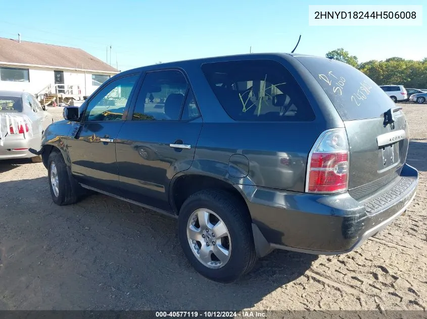
[[[120,121],[128,103],[130,93],[138,80],[138,75],[117,79],[88,103],[85,121]]]

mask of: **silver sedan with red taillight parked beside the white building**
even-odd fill
[[[41,135],[52,122],[52,115],[33,95],[0,91],[0,160],[31,158],[33,162],[41,162],[41,157],[28,149],[41,147]]]

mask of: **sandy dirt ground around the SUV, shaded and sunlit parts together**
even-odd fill
[[[425,310],[427,104],[402,106],[420,173],[406,215],[354,252],[274,251],[228,285],[187,263],[175,220],[103,195],[58,207],[43,164],[0,162],[0,309]]]

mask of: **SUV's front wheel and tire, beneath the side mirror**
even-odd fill
[[[68,172],[62,154],[53,151],[48,159],[48,180],[52,200],[55,204],[70,205],[79,200],[79,187]]]

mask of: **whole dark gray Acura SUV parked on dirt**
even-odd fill
[[[94,190],[178,219],[222,282],[272,249],[341,254],[405,212],[405,115],[353,67],[246,54],[122,72],[43,134],[53,201]]]

